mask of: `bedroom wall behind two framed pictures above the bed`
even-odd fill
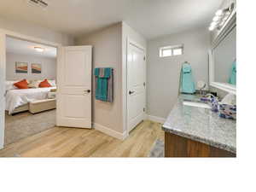
[[[27,62],[27,73],[15,73],[15,62]],[[35,74],[31,72],[32,63],[40,63],[42,65],[42,73]],[[56,58],[47,58],[35,55],[20,55],[14,53],[6,54],[6,79],[56,79]]]

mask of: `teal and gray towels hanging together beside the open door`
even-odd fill
[[[113,102],[113,68],[96,68],[96,100]]]

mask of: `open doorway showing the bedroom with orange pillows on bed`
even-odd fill
[[[53,128],[57,48],[6,37],[4,145]]]

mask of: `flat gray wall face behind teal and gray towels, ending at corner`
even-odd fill
[[[92,118],[94,123],[122,133],[122,25],[109,26],[99,32],[76,39],[77,45],[93,46],[93,68],[113,67],[113,103],[95,99],[95,78],[93,76]]]

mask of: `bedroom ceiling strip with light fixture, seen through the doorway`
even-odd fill
[[[38,52],[34,47],[44,48],[44,52]],[[57,49],[44,44],[35,44],[32,42],[23,41],[17,38],[6,38],[6,52],[22,55],[43,56],[48,58],[56,57]]]

